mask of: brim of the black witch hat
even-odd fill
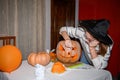
[[[99,34],[94,29],[91,29],[88,26],[84,26],[84,27],[98,41],[100,41],[100,42],[102,42],[102,43],[104,43],[106,45],[110,45],[110,44],[113,43],[112,39],[107,34],[104,34],[104,36],[103,36],[103,35]]]

